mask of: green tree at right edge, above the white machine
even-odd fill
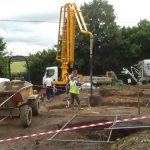
[[[123,27],[116,41],[117,68],[130,67],[139,60],[150,57],[150,22],[141,20],[137,26]]]

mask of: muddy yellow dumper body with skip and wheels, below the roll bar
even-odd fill
[[[33,115],[39,115],[39,96],[33,94],[32,84],[12,80],[0,83],[0,116],[20,116],[23,127],[28,127]]]

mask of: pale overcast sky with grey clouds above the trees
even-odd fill
[[[92,0],[0,0],[0,36],[13,55],[29,55],[57,44],[60,7],[68,2],[78,6]],[[150,20],[150,0],[108,0],[115,9],[117,23],[136,25],[140,19]],[[40,20],[41,23],[2,20]]]

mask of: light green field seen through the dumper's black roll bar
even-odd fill
[[[10,65],[11,73],[12,74],[18,74],[26,72],[26,62],[25,61],[18,61],[18,62],[12,62]]]

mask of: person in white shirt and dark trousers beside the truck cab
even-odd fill
[[[51,97],[51,94],[53,91],[53,87],[52,87],[52,79],[49,77],[49,75],[46,76],[44,84],[46,86],[47,100],[50,100],[50,97]]]

